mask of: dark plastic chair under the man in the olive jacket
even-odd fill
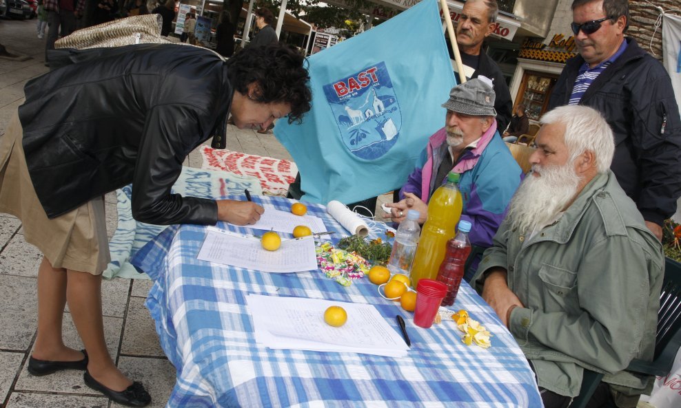
[[[653,361],[634,359],[627,371],[650,376],[666,376],[681,347],[681,264],[667,258],[664,263],[664,282],[660,293],[658,330],[655,333]],[[570,408],[585,408],[603,374],[584,370],[582,388]]]

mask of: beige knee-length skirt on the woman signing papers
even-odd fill
[[[14,114],[0,140],[0,213],[21,219],[26,241],[54,268],[100,275],[111,259],[103,198],[49,219],[31,182],[22,138],[19,114]]]

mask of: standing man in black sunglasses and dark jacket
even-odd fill
[[[624,36],[627,0],[575,0],[572,17],[579,55],[567,61],[548,110],[587,105],[600,111],[615,133],[611,169],[662,239],[664,219],[681,194],[681,119],[669,74]]]

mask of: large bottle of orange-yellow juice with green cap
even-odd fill
[[[447,184],[440,186],[428,202],[428,219],[421,229],[411,266],[411,284],[416,288],[419,279],[436,279],[438,268],[445,259],[447,241],[456,235],[456,224],[461,217],[463,201],[456,186],[458,173],[447,174]]]

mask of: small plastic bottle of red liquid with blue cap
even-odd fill
[[[468,240],[468,233],[471,231],[471,223],[465,220],[459,222],[456,236],[447,241],[447,253],[445,260],[440,264],[438,271],[438,281],[447,285],[447,294],[443,299],[443,306],[454,304],[456,294],[459,291],[461,279],[463,279],[464,266],[466,259],[471,253],[471,241]]]

